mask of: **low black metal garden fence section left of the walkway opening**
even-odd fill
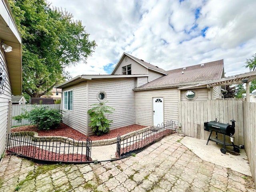
[[[34,160],[48,163],[83,163],[91,161],[92,141],[90,137],[60,140],[56,137],[36,138],[28,134],[8,134],[7,152]]]

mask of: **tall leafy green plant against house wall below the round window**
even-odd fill
[[[88,110],[91,120],[89,126],[98,136],[109,133],[109,127],[113,122],[113,120],[108,120],[108,115],[113,113],[114,108],[105,105],[107,102],[92,104],[93,108]]]

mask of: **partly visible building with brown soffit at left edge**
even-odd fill
[[[22,93],[21,36],[7,0],[0,1],[0,154],[10,133],[12,95]]]

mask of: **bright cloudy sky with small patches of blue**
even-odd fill
[[[123,52],[165,70],[224,59],[225,76],[248,72],[256,53],[256,0],[48,0],[95,40],[72,77],[110,74]]]

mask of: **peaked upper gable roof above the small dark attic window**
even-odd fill
[[[158,66],[154,66],[150,63],[145,62],[144,60],[138,59],[132,55],[129,55],[127,53],[123,53],[121,58],[118,60],[118,62],[116,63],[116,66],[114,67],[114,69],[111,72],[111,75],[114,75],[114,73],[116,72],[116,70],[118,69],[119,65],[121,64],[122,60],[124,59],[125,56],[128,56],[129,58],[131,58],[132,60],[136,61],[137,63],[141,64],[142,66],[144,66],[145,68],[158,72],[160,74],[164,74],[167,75],[166,71],[162,68],[159,68]]]

